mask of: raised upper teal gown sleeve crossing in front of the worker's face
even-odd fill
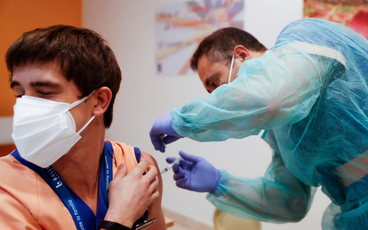
[[[173,128],[196,141],[224,141],[257,135],[306,117],[341,53],[290,42],[244,61],[238,77],[204,100],[171,110]]]

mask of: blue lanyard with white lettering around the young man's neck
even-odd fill
[[[112,181],[112,164],[113,164],[113,148],[111,143],[105,141],[103,147],[103,156],[101,161],[101,169],[99,175],[99,192],[98,192],[98,206],[96,216],[91,208],[75,194],[61,179],[56,170],[52,166],[41,168],[27,160],[23,159],[18,150],[15,149],[11,153],[19,162],[38,173],[43,180],[52,188],[52,190],[59,196],[65,207],[69,210],[75,226],[78,230],[92,230],[97,229],[100,220],[105,218],[109,204],[107,202],[107,192],[109,184]]]

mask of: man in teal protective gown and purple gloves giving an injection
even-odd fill
[[[323,229],[368,229],[367,39],[312,18],[287,25],[270,50],[262,47],[234,28],[205,38],[191,67],[211,94],[158,118],[150,132],[155,149],[164,152],[163,134],[169,144],[265,130],[274,155],[264,177],[235,177],[180,152],[177,186],[209,192],[207,199],[232,215],[284,223],[301,220],[322,185],[332,201]]]

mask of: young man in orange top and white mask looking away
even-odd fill
[[[106,41],[74,26],[35,29],[6,63],[17,149],[0,158],[0,229],[135,229],[154,218],[151,229],[166,229],[155,160],[105,140],[121,81]]]

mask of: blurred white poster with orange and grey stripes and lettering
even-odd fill
[[[243,0],[192,0],[156,8],[156,72],[191,74],[199,43],[224,27],[243,29]]]

